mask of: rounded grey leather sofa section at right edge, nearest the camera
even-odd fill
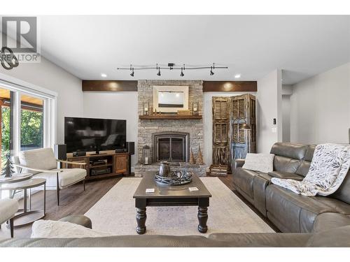
[[[340,226],[350,226],[350,216],[339,213],[318,214],[315,219],[313,232],[328,231]]]

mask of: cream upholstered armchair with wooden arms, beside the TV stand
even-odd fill
[[[36,178],[45,178],[46,189],[57,191],[57,205],[59,205],[60,190],[82,181],[85,191],[85,169],[57,168],[58,162],[79,166],[84,166],[85,163],[55,159],[52,148],[22,151],[18,157],[13,159],[15,162],[13,165],[20,168],[21,173],[32,173]]]

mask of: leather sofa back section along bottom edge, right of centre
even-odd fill
[[[311,234],[214,233],[208,238],[228,242],[233,247],[304,247]]]

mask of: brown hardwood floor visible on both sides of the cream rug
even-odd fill
[[[112,177],[104,180],[92,180],[86,182],[85,191],[83,191],[82,184],[76,184],[72,187],[64,189],[60,192],[59,206],[57,206],[56,202],[56,191],[46,191],[46,216],[44,219],[58,220],[62,217],[66,217],[69,214],[85,214],[85,212],[92,208],[92,206],[97,203],[97,201],[99,201],[99,199],[102,198],[102,196],[104,196],[109,189],[118,183],[121,178],[122,177]],[[265,219],[265,217],[255,210],[255,208],[244,198],[237,194],[232,184],[232,175],[228,175],[228,177],[219,177],[219,179],[276,231],[276,228],[267,219]],[[40,191],[34,194],[31,201],[33,209],[41,209],[43,203],[43,192]],[[20,201],[20,205],[22,205],[22,201]],[[14,231],[15,238],[29,238],[30,234],[31,225],[15,228]],[[10,231],[6,227],[6,224],[1,225],[0,238],[8,238],[9,236]]]

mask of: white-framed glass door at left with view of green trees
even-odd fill
[[[30,93],[0,82],[0,170],[6,155],[53,147],[55,143],[55,97]]]

